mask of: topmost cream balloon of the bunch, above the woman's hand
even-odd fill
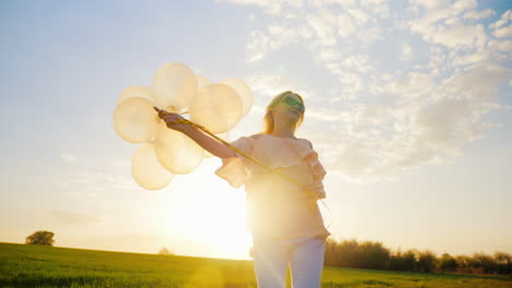
[[[166,63],[159,68],[151,86],[159,104],[165,109],[173,106],[176,111],[188,108],[197,93],[196,75],[179,63]]]

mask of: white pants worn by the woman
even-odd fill
[[[258,288],[286,287],[288,266],[293,288],[319,287],[325,242],[318,238],[275,240],[253,237],[254,271]]]

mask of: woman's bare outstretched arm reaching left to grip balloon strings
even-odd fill
[[[165,112],[156,107],[154,107],[154,109],[159,112],[159,117],[165,121],[167,128],[174,129],[189,136],[212,155],[219,158],[231,158],[236,156],[232,149],[228,148],[225,145],[214,140],[210,135],[203,133],[201,130],[189,124],[175,123],[177,120],[183,118],[182,116],[177,113]]]

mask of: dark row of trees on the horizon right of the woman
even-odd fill
[[[512,275],[512,255],[505,252],[474,253],[441,256],[424,250],[392,251],[382,242],[356,240],[326,241],[325,265],[369,269],[405,271],[421,273],[464,273]]]

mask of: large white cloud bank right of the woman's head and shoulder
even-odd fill
[[[341,128],[328,133],[338,140],[314,135],[321,141],[316,145],[327,151],[323,154],[330,170],[356,181],[449,159],[496,128],[482,118],[499,107],[497,86],[510,76],[508,69],[489,63],[442,81],[417,72],[405,80],[388,75],[384,91],[399,95],[397,100],[389,106],[354,105],[350,117],[338,119]],[[339,143],[336,149],[329,149],[331,143]]]

